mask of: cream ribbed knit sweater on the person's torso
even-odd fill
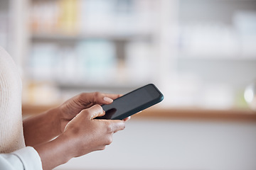
[[[25,147],[21,89],[21,77],[14,60],[0,47],[0,153]]]

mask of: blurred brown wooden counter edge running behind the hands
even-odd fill
[[[23,115],[36,115],[54,108],[58,104],[51,106],[28,105],[23,104]],[[154,106],[141,113],[133,115],[132,118],[153,118],[164,120],[225,120],[225,121],[247,121],[256,122],[256,112],[248,109],[230,109],[230,110],[208,110],[201,108],[159,108]]]

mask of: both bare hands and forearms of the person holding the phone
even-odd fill
[[[105,149],[112,135],[129,120],[94,119],[105,115],[101,105],[110,104],[116,94],[83,93],[57,108],[23,121],[27,146],[36,149],[43,169],[53,169],[73,157]],[[54,140],[52,140],[55,137]]]

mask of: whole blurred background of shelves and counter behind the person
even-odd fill
[[[80,92],[165,96],[57,169],[256,169],[255,0],[0,0],[0,45],[24,117]]]

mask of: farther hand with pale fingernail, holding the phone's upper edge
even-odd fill
[[[65,126],[70,122],[70,120],[72,120],[83,109],[90,108],[95,104],[110,104],[115,98],[118,98],[119,96],[121,95],[94,92],[82,93],[78,96],[70,98],[59,107],[60,132],[63,132]]]

